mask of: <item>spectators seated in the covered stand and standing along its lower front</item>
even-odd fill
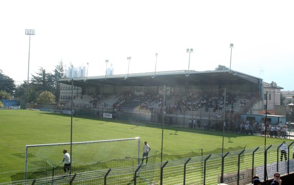
[[[89,103],[93,104],[93,108],[96,109],[99,102],[106,99],[108,96],[109,94],[92,94],[93,99],[89,101]],[[123,97],[119,96],[118,94],[116,97],[117,100],[112,104],[111,107],[112,111],[123,111],[123,102],[126,100],[130,100],[139,101],[140,109],[153,110],[153,108],[159,108],[159,111],[163,112],[164,96],[161,94],[154,94],[149,92],[145,94],[135,95],[134,93],[128,91],[123,94]],[[211,125],[211,121],[209,120],[201,124],[200,119],[196,119],[195,117],[193,118],[192,116],[192,118],[189,119],[188,127],[195,129],[203,128],[205,130],[209,130],[212,127],[215,130],[221,131],[222,124],[226,124],[225,131],[253,135],[256,131],[260,130],[262,136],[266,135],[268,137],[286,137],[287,128],[281,126],[280,124],[269,124],[267,127],[267,131],[265,132],[265,126],[262,121],[259,124],[257,124],[256,121],[250,122],[238,120],[239,114],[238,112],[235,112],[235,109],[237,107],[245,107],[247,101],[249,101],[250,98],[252,98],[252,94],[250,93],[239,95],[227,93],[225,97],[224,93],[208,94],[202,91],[199,91],[199,93],[188,92],[185,94],[172,94],[165,97],[165,111],[167,114],[174,114],[175,111],[182,114],[186,111],[203,110],[205,112],[216,112],[223,111],[223,109],[227,109],[225,111],[226,117],[230,120],[235,119],[237,121],[231,121],[230,124],[218,121],[214,125]],[[224,99],[226,101],[226,107],[224,107]],[[154,105],[156,106],[154,107]],[[107,105],[104,103],[104,107],[106,106]],[[168,116],[167,123],[168,125],[172,124],[172,116]]]

